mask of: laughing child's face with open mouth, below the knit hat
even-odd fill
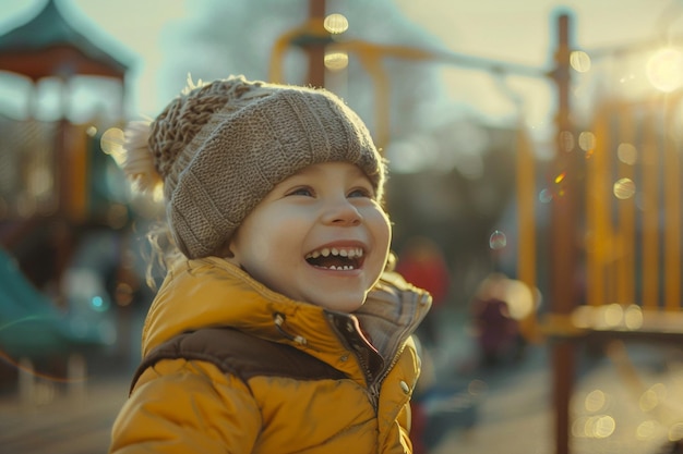
[[[382,273],[391,235],[362,171],[326,162],[271,191],[232,237],[230,260],[292,299],[348,312]]]

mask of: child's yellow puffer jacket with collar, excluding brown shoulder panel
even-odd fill
[[[183,332],[232,327],[293,346],[347,378],[244,382],[211,361],[161,359],[135,382],[109,452],[409,453],[419,376],[410,334],[430,304],[393,273],[348,315],[286,298],[221,259],[179,263],[149,309],[143,356]]]

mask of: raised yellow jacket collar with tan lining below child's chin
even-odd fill
[[[362,327],[359,334],[382,357],[393,358],[430,304],[427,292],[385,273],[358,311],[334,312],[273,292],[224,259],[182,260],[169,270],[149,308],[142,353],[185,331],[228,326],[329,361],[347,355],[345,330]]]

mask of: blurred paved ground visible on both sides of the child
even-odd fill
[[[451,412],[430,454],[552,454],[546,346],[532,347],[516,365],[488,370],[468,369],[470,352],[471,339],[459,327],[435,353],[438,373],[463,392],[436,403]],[[573,404],[574,454],[663,454],[668,433],[683,431],[681,358],[676,349],[638,346],[630,347],[628,360],[584,361]],[[41,381],[43,402],[29,406],[16,394],[0,395],[0,453],[105,453],[125,400],[124,372],[94,375],[82,390]],[[466,392],[470,384],[476,397]]]

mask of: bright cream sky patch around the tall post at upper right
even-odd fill
[[[447,1],[396,0],[408,17],[430,30],[454,52],[479,56],[492,61],[519,63],[551,70],[556,42],[556,17],[571,17],[571,45],[594,56],[611,56],[613,50],[640,48],[655,42],[663,46],[672,37],[683,37],[683,1],[681,0],[477,0]],[[457,7],[447,7],[457,4]],[[575,105],[595,99],[596,85],[608,85],[634,95],[650,89],[643,60],[651,52],[634,52],[634,59],[594,58],[592,74],[574,75]],[[620,61],[621,63],[615,63]],[[478,71],[462,68],[444,70],[450,96],[472,103],[490,116],[522,109],[530,128],[549,130],[555,109],[554,86],[548,81],[510,76],[500,84]],[[510,90],[522,106],[505,102],[501,90]],[[606,89],[603,88],[603,91]]]

